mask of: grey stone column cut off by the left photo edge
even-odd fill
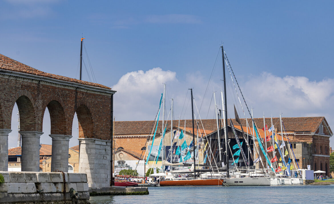
[[[0,171],[8,171],[8,134],[12,130],[0,129]]]

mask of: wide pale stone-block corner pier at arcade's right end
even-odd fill
[[[111,141],[78,138],[79,173],[86,173],[90,188],[109,188],[111,181]]]

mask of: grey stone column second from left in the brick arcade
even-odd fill
[[[39,172],[39,138],[37,131],[20,131],[22,135],[21,171]]]

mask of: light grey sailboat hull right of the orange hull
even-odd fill
[[[270,186],[270,178],[266,177],[246,177],[224,179],[226,186]]]

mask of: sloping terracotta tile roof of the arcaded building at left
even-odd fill
[[[69,78],[69,77],[66,77],[66,76],[60,76],[60,75],[56,75],[56,74],[46,73],[46,72],[34,69],[34,68],[32,68],[28,65],[25,65],[21,62],[15,61],[14,59],[6,57],[2,54],[0,54],[0,69],[9,70],[9,71],[17,71],[17,72],[33,74],[33,75],[37,75],[37,76],[44,76],[44,77],[48,77],[48,78],[58,79],[58,80],[62,80],[62,81],[69,81],[69,82],[80,83],[80,84],[85,84],[85,85],[89,85],[89,86],[96,86],[96,87],[100,87],[100,88],[111,89],[108,86],[98,84],[98,83],[92,83],[92,82],[89,82],[89,81],[82,81],[82,80],[79,80],[79,79]]]

